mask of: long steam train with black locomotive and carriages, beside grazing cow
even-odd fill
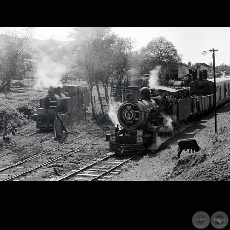
[[[214,109],[213,79],[195,80],[189,87],[129,87],[119,107],[119,124],[109,135],[110,151],[116,155],[155,152],[171,138],[181,122]],[[216,79],[216,106],[230,101],[230,78]]]

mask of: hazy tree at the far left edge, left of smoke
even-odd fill
[[[32,37],[33,28],[26,28],[24,34],[19,37],[16,32],[7,32],[5,45],[0,51],[0,92],[9,92],[13,79],[23,79],[30,72],[32,66],[25,60],[31,58],[29,40]]]

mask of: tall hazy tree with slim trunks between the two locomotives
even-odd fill
[[[96,115],[92,96],[94,86],[101,113],[105,115],[99,84],[102,83],[108,101],[109,79],[122,79],[127,70],[127,55],[131,49],[129,39],[119,38],[110,27],[74,27],[69,36],[74,39],[76,63],[89,84],[93,117]]]

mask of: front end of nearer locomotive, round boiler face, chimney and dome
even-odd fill
[[[163,128],[164,122],[160,108],[151,98],[147,87],[137,93],[136,86],[129,87],[126,101],[120,106],[117,118],[120,123],[110,134],[110,150],[116,155],[141,154],[145,150],[158,149],[157,136],[159,127],[161,133],[171,132]],[[139,96],[139,98],[138,98]]]

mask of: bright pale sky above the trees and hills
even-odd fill
[[[20,31],[22,27],[0,27],[0,34],[5,31]],[[213,62],[210,49],[216,49],[215,64],[230,65],[230,27],[111,27],[120,37],[129,37],[135,41],[135,50],[146,45],[154,38],[165,37],[171,42],[182,62],[192,64]],[[70,27],[35,27],[34,38],[45,40],[54,37],[66,41]],[[202,55],[207,51],[206,56]]]

